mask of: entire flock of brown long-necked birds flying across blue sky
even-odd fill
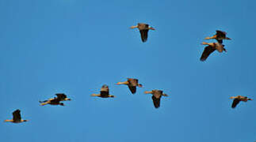
[[[136,26],[132,26],[131,28],[139,29],[140,36],[141,36],[143,43],[147,41],[148,31],[155,30],[155,28],[152,28],[148,24],[143,24],[143,23],[139,23]],[[212,37],[205,38],[205,39],[216,39],[217,42],[216,43],[205,43],[205,42],[202,43],[203,45],[208,45],[207,47],[204,47],[203,54],[201,55],[200,60],[202,62],[204,62],[208,58],[208,56],[210,54],[212,54],[212,52],[215,50],[218,50],[220,53],[223,51],[227,51],[224,48],[224,44],[222,44],[224,39],[230,40],[230,38],[228,38],[226,35],[227,35],[226,32],[217,30],[216,35],[214,35]],[[128,78],[128,80],[126,80],[124,82],[117,83],[117,85],[120,85],[120,84],[128,85],[128,88],[132,92],[132,94],[136,93],[136,87],[139,87],[139,88],[143,87],[142,84],[139,84],[139,80],[136,78]],[[144,93],[152,95],[152,100],[153,100],[155,108],[160,107],[160,99],[162,96],[168,96],[165,93],[163,93],[162,90],[152,90],[152,91],[146,91]],[[67,98],[67,95],[65,95],[63,93],[58,93],[55,95],[57,95],[57,97],[54,97],[54,98],[51,98],[48,100],[44,100],[44,101],[39,101],[40,105],[44,106],[46,104],[49,104],[49,105],[64,106],[64,103],[62,103],[63,101],[71,100],[71,99]],[[101,97],[101,98],[114,98],[115,97],[114,95],[109,94],[109,86],[106,84],[104,84],[101,87],[101,92],[99,94],[92,94],[91,96],[97,96],[97,97]],[[241,101],[247,102],[248,100],[252,100],[252,99],[250,99],[246,96],[242,96],[242,95],[232,96],[231,99],[234,99],[233,103],[231,105],[232,108],[235,108]],[[15,111],[13,111],[13,119],[7,119],[5,121],[10,121],[13,123],[20,123],[20,122],[28,121],[28,120],[21,119],[21,110],[15,110]]]

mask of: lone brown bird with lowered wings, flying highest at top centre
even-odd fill
[[[133,28],[139,28],[140,36],[142,39],[142,42],[145,43],[147,41],[147,32],[148,30],[155,30],[155,28],[149,26],[148,24],[144,23],[138,23],[136,26],[132,26]]]

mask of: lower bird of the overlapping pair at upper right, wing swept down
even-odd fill
[[[202,45],[208,45],[207,47],[204,47],[204,52],[201,55],[201,62],[204,62],[210,54],[212,54],[213,51],[218,50],[220,53],[227,50],[224,48],[225,45],[222,43],[201,43]]]

